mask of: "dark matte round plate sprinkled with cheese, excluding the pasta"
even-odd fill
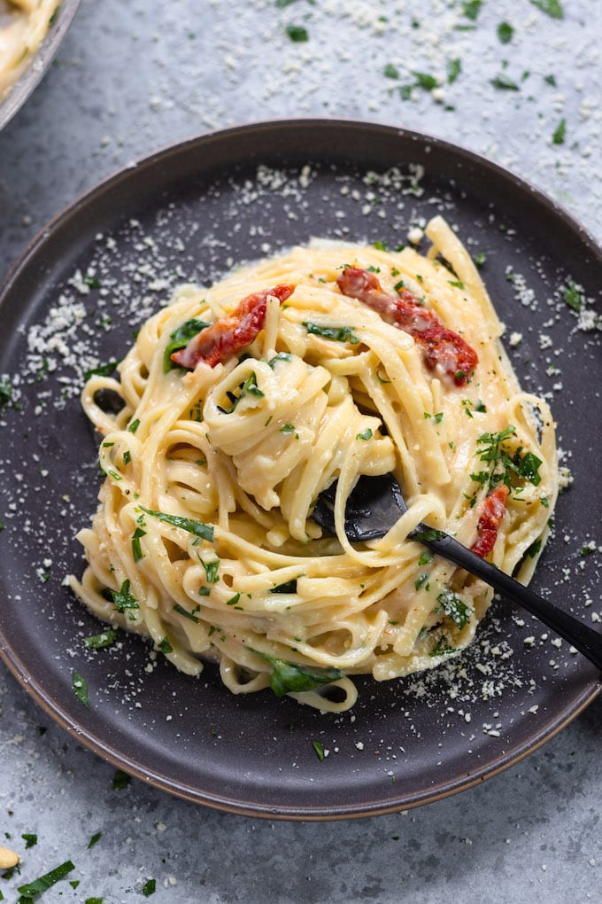
[[[406,178],[410,165],[424,167],[418,188]],[[392,167],[403,179],[366,177]],[[499,166],[392,127],[299,120],[196,138],[116,174],[61,213],[13,269],[0,307],[0,372],[22,375],[18,408],[4,410],[0,428],[0,654],[54,719],[116,766],[236,813],[381,814],[494,775],[598,692],[593,666],[496,601],[461,660],[384,684],[362,679],[353,711],[320,715],[271,692],[233,697],[212,668],[191,680],[153,664],[139,637],[89,653],[82,638],[100,626],[61,586],[82,569],[73,536],[88,523],[98,485],[75,365],[86,368],[95,354],[120,358],[167,297],[163,284],[206,282],[233,262],[315,235],[395,246],[436,212],[486,253],[483,274],[508,333],[523,334],[514,364],[526,387],[553,396],[575,478],[533,586],[579,617],[597,611],[598,553],[579,553],[602,513],[600,337],[578,328],[560,292],[572,278],[589,297],[598,293],[599,306],[602,257],[588,234]],[[78,272],[88,294],[73,279]],[[51,338],[61,298],[64,310],[77,302],[86,312],[65,358]],[[56,370],[32,360],[28,335],[36,334]],[[551,366],[560,373],[548,373]],[[74,670],[88,683],[89,709],[71,689]],[[323,761],[312,741],[328,751]]]

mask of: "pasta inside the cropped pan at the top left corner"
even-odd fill
[[[0,0],[0,100],[38,50],[60,0]]]

